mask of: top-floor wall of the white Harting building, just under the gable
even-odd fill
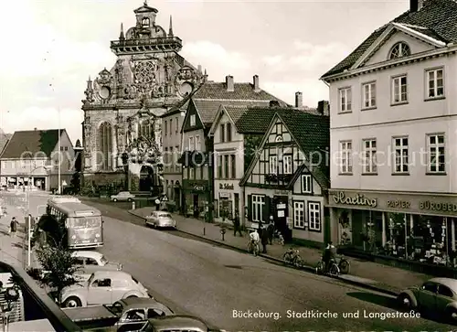
[[[330,127],[345,130],[346,127],[372,123],[392,123],[424,117],[444,116],[457,113],[457,100],[452,96],[455,90],[457,57],[428,59],[408,66],[394,67],[376,71],[347,80],[338,80],[330,84],[331,117]],[[424,102],[425,70],[444,66],[444,93],[446,99]],[[391,106],[391,78],[396,75],[408,76],[408,103]],[[376,81],[377,108],[362,111],[362,84]],[[339,113],[338,91],[352,87],[352,112]]]

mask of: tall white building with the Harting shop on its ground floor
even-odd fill
[[[322,77],[332,105],[335,242],[453,263],[456,19],[452,0],[411,0]]]

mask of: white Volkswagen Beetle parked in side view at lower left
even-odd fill
[[[62,291],[65,307],[111,305],[127,297],[150,297],[147,289],[129,273],[97,271],[86,282],[74,284]]]

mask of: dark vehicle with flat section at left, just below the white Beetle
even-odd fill
[[[113,305],[64,308],[65,314],[88,331],[94,327],[111,327],[110,331],[138,331],[147,319],[174,315],[173,311],[153,298],[131,297]]]

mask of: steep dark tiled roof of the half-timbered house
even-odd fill
[[[292,135],[292,139],[307,158],[307,163],[302,168],[299,167],[297,172],[301,171],[303,167],[306,167],[321,187],[324,189],[330,187],[330,167],[326,165],[326,161],[328,160],[326,157],[328,153],[327,149],[330,146],[330,117],[297,110],[280,110],[279,112],[275,112],[269,129],[265,131],[265,135],[263,136],[262,143],[260,144],[261,149],[266,144],[270,129],[278,118],[285,124],[287,130]],[[259,157],[260,155],[256,155],[251,161],[248,171],[239,182],[240,186],[246,184]],[[295,179],[296,177],[292,181]],[[292,184],[293,182],[290,183],[290,186]]]

